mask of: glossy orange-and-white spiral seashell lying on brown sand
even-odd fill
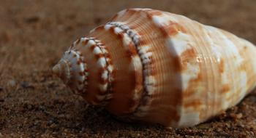
[[[125,9],[75,41],[53,72],[118,117],[184,127],[251,92],[255,53],[249,41],[187,17]]]

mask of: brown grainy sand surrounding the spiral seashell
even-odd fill
[[[52,76],[73,41],[128,7],[186,15],[256,44],[255,0],[0,0],[0,137],[256,137],[256,91],[211,121],[165,129],[117,121]]]

